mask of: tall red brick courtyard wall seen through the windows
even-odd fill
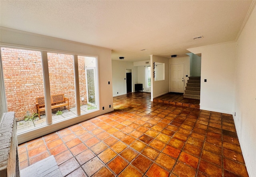
[[[1,54],[7,108],[15,112],[18,120],[23,120],[27,112],[37,112],[36,97],[44,96],[41,52],[2,47]],[[73,61],[72,55],[48,53],[50,92],[64,93],[70,108],[75,107]],[[80,92],[85,98],[81,104],[86,104],[84,60],[80,59],[78,65]]]

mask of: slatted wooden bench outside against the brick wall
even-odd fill
[[[66,102],[67,101],[67,102]],[[36,98],[36,109],[38,113],[38,117],[40,119],[40,112],[45,111],[45,102],[44,102],[44,96]],[[69,111],[69,101],[68,98],[64,97],[64,94],[54,94],[51,95],[51,107],[52,109],[54,108],[60,108],[65,106],[68,106],[68,111]]]

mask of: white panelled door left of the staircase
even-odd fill
[[[170,92],[184,93],[184,63],[170,65]]]

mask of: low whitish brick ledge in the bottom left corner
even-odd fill
[[[0,177],[20,176],[17,149],[14,112],[7,112],[0,122]]]

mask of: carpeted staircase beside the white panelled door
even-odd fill
[[[201,77],[189,77],[184,98],[200,100],[200,79]]]

